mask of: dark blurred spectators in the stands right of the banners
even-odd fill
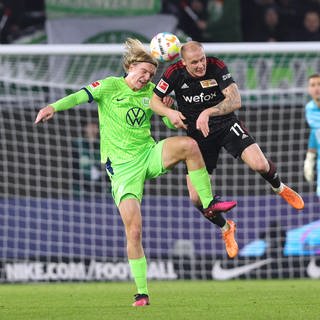
[[[320,41],[319,0],[163,0],[201,42]]]

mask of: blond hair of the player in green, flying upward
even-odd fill
[[[123,69],[127,72],[131,64],[148,62],[158,67],[158,61],[151,56],[144,45],[137,39],[128,38],[125,42],[125,52],[122,58]]]

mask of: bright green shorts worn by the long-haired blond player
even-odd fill
[[[134,198],[141,202],[145,180],[159,177],[169,171],[162,163],[163,143],[164,140],[158,142],[130,162],[106,164],[112,197],[117,206],[124,198]]]

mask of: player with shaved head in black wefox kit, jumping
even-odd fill
[[[178,110],[162,103],[162,99],[172,91],[175,92]],[[275,164],[266,159],[235,115],[234,111],[241,108],[241,97],[227,66],[216,57],[206,57],[201,43],[190,41],[181,47],[181,60],[163,73],[150,106],[162,116],[175,116],[175,127],[185,128],[187,125],[187,135],[198,142],[210,174],[216,168],[223,147],[233,157],[241,158],[252,170],[260,173],[274,192],[293,208],[304,208],[301,196],[281,182]],[[187,175],[190,198],[202,212],[201,201],[189,178]]]

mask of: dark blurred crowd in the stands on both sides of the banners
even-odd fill
[[[320,0],[162,0],[201,42],[320,41]],[[0,0],[0,42],[45,30],[45,0]]]

